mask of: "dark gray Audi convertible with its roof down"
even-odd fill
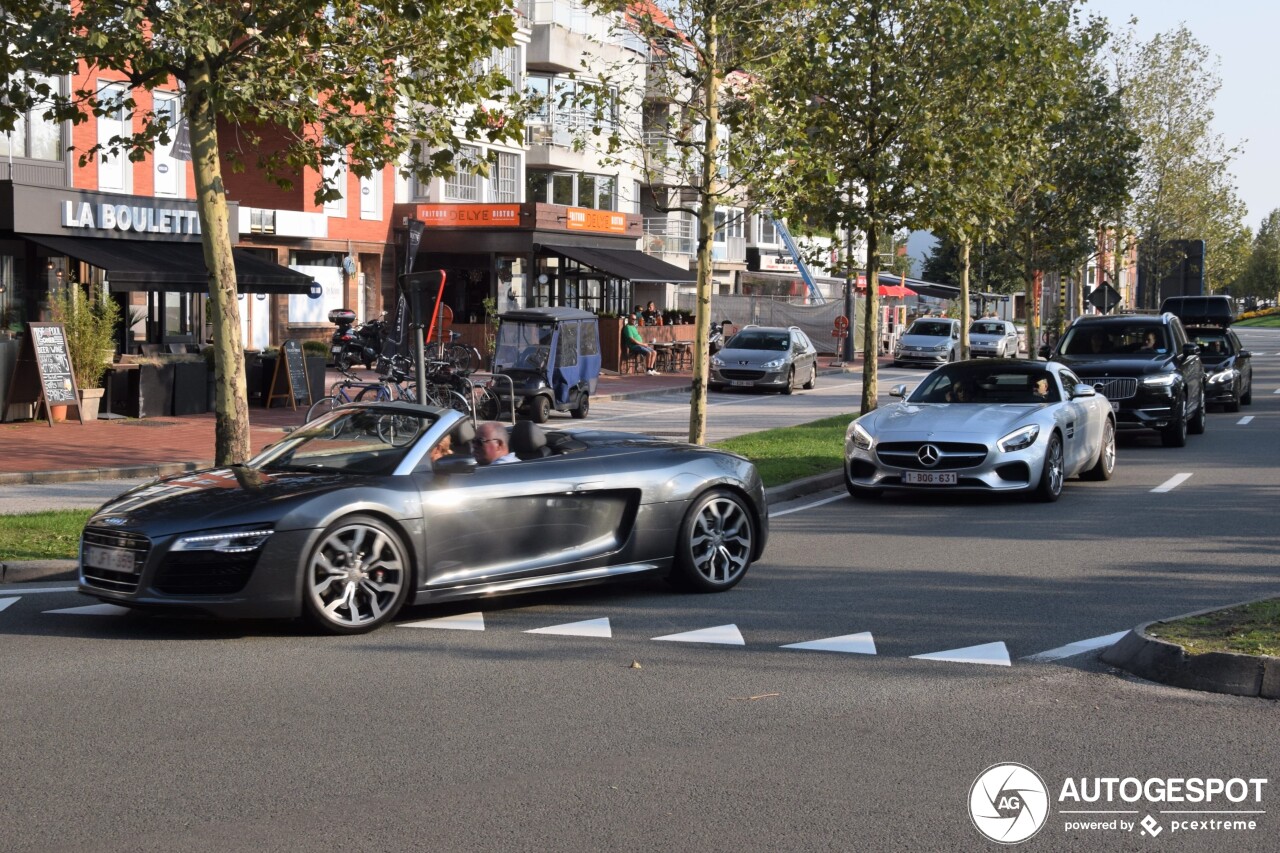
[[[138,610],[303,616],[355,634],[407,602],[639,573],[719,592],[764,549],[764,488],[741,456],[521,421],[518,461],[480,465],[474,438],[452,410],[334,410],[244,465],[102,506],[81,539],[79,589]]]

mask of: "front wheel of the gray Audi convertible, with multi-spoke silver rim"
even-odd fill
[[[394,619],[413,581],[401,538],[367,515],[325,528],[302,573],[302,612],[328,634],[364,634]]]

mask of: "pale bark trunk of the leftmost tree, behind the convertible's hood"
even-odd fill
[[[214,460],[218,465],[243,462],[252,455],[248,428],[248,388],[241,342],[236,264],[218,151],[218,117],[207,63],[198,64],[187,90],[187,124],[191,132],[192,170],[200,210],[201,243],[209,268],[209,318],[214,332]]]

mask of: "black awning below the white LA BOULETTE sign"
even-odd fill
[[[113,291],[180,291],[206,293],[209,270],[200,243],[163,243],[141,240],[78,240],[28,234],[32,242],[90,266],[106,270]],[[311,277],[273,264],[243,248],[232,250],[236,283],[242,293],[311,292]]]

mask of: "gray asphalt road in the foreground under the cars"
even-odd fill
[[[1020,762],[1051,800],[1025,849],[1274,850],[1275,702],[1055,651],[1280,594],[1280,333],[1240,332],[1254,405],[1188,447],[1124,439],[1112,482],[1055,505],[809,496],[722,596],[634,581],[316,638],[0,589],[0,849],[998,849],[970,786]],[[913,657],[938,653],[974,662]],[[1093,777],[1267,783],[1060,799]]]

